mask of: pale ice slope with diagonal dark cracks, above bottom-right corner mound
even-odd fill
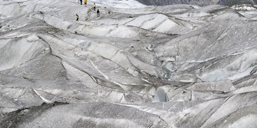
[[[211,127],[213,124],[218,124],[218,119],[226,118],[230,113],[233,114],[233,112],[240,111],[240,109],[256,105],[256,100],[248,99],[251,97],[256,97],[256,91],[233,96],[222,96],[211,100],[159,102],[150,105],[122,105],[159,115],[171,127]],[[238,105],[238,103],[240,105]],[[253,110],[248,113],[249,115],[244,115],[246,112],[241,111],[242,115],[237,114],[237,118],[255,120],[256,115],[254,111],[256,111],[256,108],[253,107],[252,109]],[[238,122],[235,119],[233,121],[227,121],[231,121],[230,123],[241,123],[242,127],[248,126],[248,123],[244,123],[244,121],[240,120],[238,120]]]

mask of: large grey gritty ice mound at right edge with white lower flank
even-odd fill
[[[184,75],[197,74],[204,81],[238,79],[249,75],[255,67],[255,25],[251,20],[217,22],[174,38],[166,42],[168,47],[159,46],[154,52],[166,61],[167,69]]]

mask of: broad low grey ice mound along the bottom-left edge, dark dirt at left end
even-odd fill
[[[1,125],[10,127],[169,127],[158,115],[145,113],[133,107],[105,102],[93,104],[57,102],[54,106],[42,104],[21,111],[22,114],[13,113],[14,115],[11,115],[12,113],[10,113],[11,116],[5,118],[7,122],[3,122]],[[63,115],[63,111],[67,113]],[[17,115],[24,116],[15,121],[16,125],[8,122]],[[40,118],[33,118],[38,115]],[[61,120],[60,116],[62,116]],[[45,118],[45,120],[41,120],[41,118]]]

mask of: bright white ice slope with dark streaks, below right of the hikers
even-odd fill
[[[136,18],[125,18],[121,20],[110,18],[92,22],[137,26],[147,30],[168,34],[184,34],[193,29],[197,29],[197,26],[199,26],[199,24],[196,23],[186,22],[159,13],[151,13]]]

